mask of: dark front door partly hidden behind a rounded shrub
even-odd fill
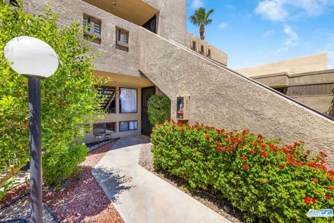
[[[141,134],[150,135],[152,125],[148,120],[148,100],[155,95],[155,86],[141,89]]]

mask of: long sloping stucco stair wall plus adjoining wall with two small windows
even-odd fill
[[[25,1],[26,10],[35,13],[41,0]],[[276,95],[226,68],[191,52],[139,26],[130,24],[83,1],[51,2],[66,24],[81,21],[82,13],[102,17],[104,54],[97,69],[140,76],[141,70],[172,102],[175,118],[177,95],[190,95],[190,121],[216,127],[253,132],[291,143],[303,139],[310,148],[328,153],[334,167],[334,123],[294,102]],[[175,3],[177,6],[177,3]],[[129,53],[115,49],[115,26],[130,31]]]

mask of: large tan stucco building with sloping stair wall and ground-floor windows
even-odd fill
[[[303,139],[334,160],[334,121],[292,98],[227,68],[227,56],[186,32],[186,0],[25,0],[28,13],[51,3],[59,26],[90,24],[85,36],[103,52],[97,77],[111,77],[104,89],[109,112],[94,124],[95,137],[150,134],[146,101],[154,93],[188,98],[189,123],[242,130],[291,143]],[[200,50],[200,51],[198,51]],[[332,165],[330,162],[328,165]]]

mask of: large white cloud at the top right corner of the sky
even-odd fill
[[[334,0],[262,0],[255,13],[267,20],[285,21],[290,17],[312,17],[323,14]]]

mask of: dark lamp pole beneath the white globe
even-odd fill
[[[29,148],[31,222],[42,223],[42,148],[40,78],[29,77]]]

